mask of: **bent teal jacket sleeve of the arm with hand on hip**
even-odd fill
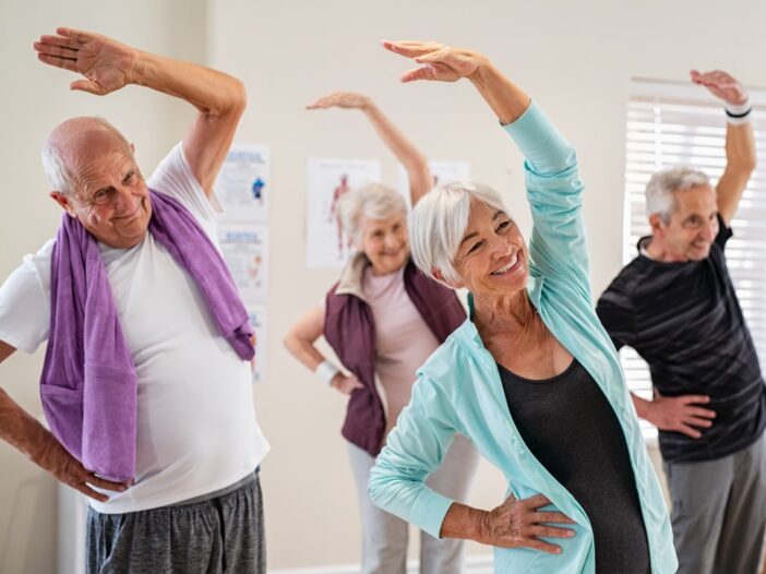
[[[454,501],[434,492],[426,479],[442,463],[455,430],[444,414],[451,407],[423,375],[370,471],[368,492],[384,511],[439,538]]]

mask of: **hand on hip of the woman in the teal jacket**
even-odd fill
[[[551,503],[542,494],[518,500],[508,497],[496,509],[484,515],[482,542],[501,548],[532,548],[552,554],[561,553],[561,547],[546,542],[541,538],[572,538],[571,528],[550,526],[553,524],[575,524],[561,512],[540,511]]]

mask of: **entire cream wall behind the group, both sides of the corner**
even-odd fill
[[[354,485],[339,426],[344,399],[322,388],[282,348],[301,312],[334,282],[304,268],[304,162],[310,156],[378,157],[384,180],[395,165],[359,115],[307,112],[333,89],[371,94],[433,158],[466,159],[501,189],[523,226],[520,158],[467,84],[400,85],[408,63],[380,38],[438,39],[476,48],[540,101],[577,145],[588,184],[594,290],[620,266],[626,86],[631,76],[685,77],[692,67],[726,68],[766,85],[763,2],[737,0],[2,0],[0,77],[0,277],[53,232],[59,211],[45,198],[38,154],[61,120],[97,113],[135,142],[145,171],[176,141],[190,109],[129,88],[104,99],[67,91],[70,75],[35,61],[32,41],[57,25],[95,29],[140,47],[208,61],[240,76],[250,106],[239,139],[264,142],[274,156],[267,382],[256,392],[273,452],[263,465],[270,565],[273,569],[358,561]],[[0,386],[38,415],[40,354],[17,354]],[[482,467],[474,502],[501,501],[504,486]],[[0,444],[0,572],[55,569],[52,480]],[[472,552],[486,552],[472,548]]]

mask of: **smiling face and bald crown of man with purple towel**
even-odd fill
[[[51,196],[98,241],[120,249],[136,246],[146,235],[152,206],[132,147],[103,127],[68,132],[53,145],[75,189]]]

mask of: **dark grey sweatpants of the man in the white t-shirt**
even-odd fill
[[[195,499],[199,500],[199,499]],[[87,513],[87,574],[265,574],[258,474],[201,502]]]

